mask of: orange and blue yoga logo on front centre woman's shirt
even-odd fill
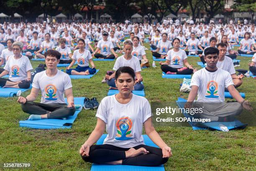
[[[116,122],[116,128],[117,128],[117,134],[116,134],[116,140],[130,140],[132,139],[131,136],[131,128],[132,128],[133,122],[129,117],[121,117]]]

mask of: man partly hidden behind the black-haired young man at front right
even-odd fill
[[[228,56],[225,56],[227,52],[227,45],[225,43],[219,43],[217,45],[217,48],[220,51],[217,67],[229,72],[235,87],[241,86],[241,84],[243,83],[242,81],[243,75],[240,75],[240,76],[236,75],[236,70],[235,70],[232,59]]]

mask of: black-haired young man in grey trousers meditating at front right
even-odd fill
[[[252,110],[251,104],[245,101],[235,89],[232,77],[228,71],[218,68],[219,50],[209,47],[205,49],[207,66],[196,71],[191,79],[192,88],[184,108],[199,108],[202,112],[195,117],[210,119],[210,121],[231,121],[235,115],[242,112],[242,107]],[[225,87],[237,102],[225,103]],[[197,96],[197,102],[193,103]],[[203,102],[203,103],[202,103]]]

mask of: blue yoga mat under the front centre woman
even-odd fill
[[[101,145],[106,138],[107,134],[103,134],[97,141],[97,145]],[[148,135],[142,135],[146,145],[157,147],[156,144],[148,137]],[[92,164],[91,171],[164,171],[164,165],[156,167],[146,166],[128,166],[128,165],[107,165],[107,164]]]

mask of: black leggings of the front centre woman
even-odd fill
[[[145,148],[149,151],[148,154],[143,154],[136,157],[125,158],[125,151],[130,148],[120,148],[114,145],[92,145],[89,151],[89,157],[82,156],[84,161],[90,163],[104,164],[111,161],[122,161],[122,165],[132,166],[159,166],[168,161],[168,158],[163,158],[161,148],[151,147],[148,145],[137,145],[133,148]]]

